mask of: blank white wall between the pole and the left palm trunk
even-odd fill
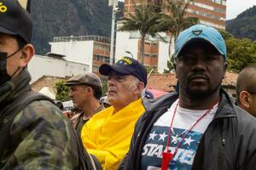
[[[134,59],[137,59],[138,39],[131,39],[130,34],[128,31],[117,31],[115,61],[124,56],[131,57],[131,54],[133,54]],[[131,54],[127,54],[125,51],[130,51]]]

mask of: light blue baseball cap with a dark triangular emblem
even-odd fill
[[[179,34],[177,41],[175,42],[175,58],[177,58],[178,54],[189,42],[196,42],[196,40],[210,42],[212,46],[218,50],[218,53],[222,54],[226,60],[227,48],[224,38],[215,28],[204,25],[191,26]]]

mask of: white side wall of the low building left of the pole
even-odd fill
[[[93,41],[49,42],[50,52],[65,55],[65,59],[89,65],[92,71]]]

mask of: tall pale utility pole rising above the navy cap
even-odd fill
[[[115,15],[120,11],[118,8],[118,0],[108,0],[108,6],[112,7],[112,25],[111,25],[111,42],[109,64],[114,64],[114,37],[115,37]]]

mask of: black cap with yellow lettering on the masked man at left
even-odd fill
[[[32,18],[17,0],[1,0],[0,33],[21,37],[31,42]]]

